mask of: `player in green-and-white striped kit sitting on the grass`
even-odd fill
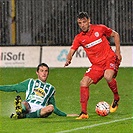
[[[45,63],[37,66],[38,79],[27,79],[13,85],[1,85],[0,90],[5,92],[26,92],[25,101],[21,97],[15,98],[15,114],[11,118],[45,118],[55,113],[58,116],[77,116],[77,114],[66,114],[60,111],[55,104],[55,88],[46,80],[49,75],[49,67]]]

